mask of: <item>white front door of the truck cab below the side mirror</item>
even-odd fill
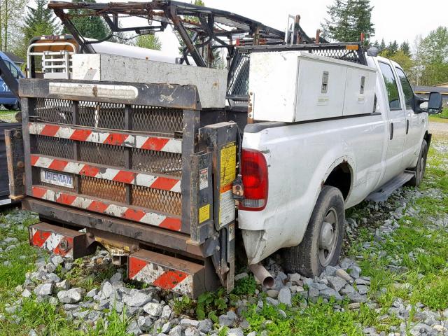
[[[395,71],[397,72],[398,78],[400,79],[400,84],[402,87],[402,92],[405,100],[405,115],[406,115],[406,139],[405,148],[403,151],[403,162],[402,168],[410,168],[416,158],[418,158],[421,147],[421,137],[422,130],[424,129],[422,125],[425,122],[424,113],[415,113],[412,109],[412,100],[414,99],[414,92],[409,80],[398,66],[395,66]]]

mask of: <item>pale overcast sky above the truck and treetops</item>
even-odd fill
[[[97,0],[99,2],[109,2]],[[120,1],[120,0],[116,0]],[[123,1],[123,0],[121,0]],[[135,0],[134,0],[135,1]],[[188,1],[189,2],[189,1]],[[204,0],[206,6],[229,10],[284,30],[288,14],[300,14],[300,25],[309,36],[315,36],[333,0]],[[448,0],[371,0],[372,21],[376,33],[372,41],[409,41],[417,35],[426,36],[439,26],[448,26]],[[176,52],[172,34],[160,34],[162,50]]]

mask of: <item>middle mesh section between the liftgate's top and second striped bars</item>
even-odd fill
[[[79,160],[112,167],[126,167],[126,148],[91,142],[79,143]]]

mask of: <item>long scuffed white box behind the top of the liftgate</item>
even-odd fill
[[[106,54],[73,55],[73,79],[195,85],[203,109],[225,107],[227,70]]]

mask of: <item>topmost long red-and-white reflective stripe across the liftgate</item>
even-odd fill
[[[29,134],[94,142],[97,144],[141,148],[148,151],[182,153],[181,139],[148,137],[145,135],[98,131],[88,128],[75,128],[44,123],[29,123]]]

